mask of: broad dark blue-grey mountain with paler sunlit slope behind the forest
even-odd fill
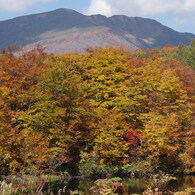
[[[56,54],[84,52],[87,48],[123,46],[126,49],[162,48],[183,42],[189,45],[194,34],[179,33],[159,22],[114,15],[86,16],[70,9],[17,17],[0,22],[0,48],[37,45]]]

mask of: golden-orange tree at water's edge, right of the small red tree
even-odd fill
[[[141,145],[152,163],[161,168],[177,167],[178,154],[183,150],[182,124],[176,114],[163,116],[152,112],[142,132]],[[168,165],[168,166],[167,166]],[[173,166],[174,165],[174,166]]]

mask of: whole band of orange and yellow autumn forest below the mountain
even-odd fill
[[[195,41],[0,54],[0,174],[193,174]],[[132,171],[133,170],[133,171]]]

